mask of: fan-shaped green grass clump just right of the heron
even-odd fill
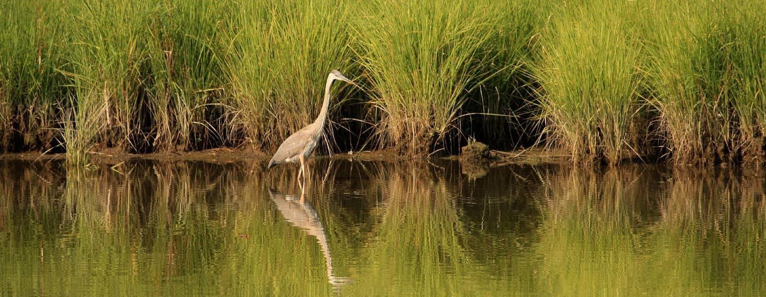
[[[370,2],[358,21],[381,146],[437,150],[460,131],[471,91],[493,74],[499,21],[489,2]]]

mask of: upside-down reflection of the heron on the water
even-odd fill
[[[303,229],[319,241],[319,247],[322,248],[322,254],[327,263],[327,279],[332,288],[339,289],[340,286],[349,283],[348,278],[336,277],[332,273],[332,255],[327,244],[325,228],[322,226],[322,221],[319,221],[319,215],[317,215],[311,202],[306,201],[306,191],[303,187],[301,187],[300,198],[296,197],[297,195],[280,194],[274,189],[269,189],[269,196],[290,224]]]

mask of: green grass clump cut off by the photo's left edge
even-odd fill
[[[56,1],[0,4],[0,152],[58,144],[57,112],[67,89],[57,72],[66,32]]]

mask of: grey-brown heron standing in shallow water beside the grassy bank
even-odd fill
[[[298,171],[298,174],[303,173],[303,179],[306,179],[306,158],[316,148],[316,144],[319,143],[319,137],[322,137],[322,131],[327,121],[327,108],[330,104],[330,86],[332,86],[332,81],[336,79],[354,84],[351,79],[347,79],[338,70],[330,71],[329,76],[327,76],[327,83],[325,84],[325,99],[322,102],[322,111],[319,111],[319,116],[316,117],[313,123],[293,133],[280,144],[277,153],[274,153],[274,156],[269,161],[269,169],[277,164],[300,161],[300,171]]]

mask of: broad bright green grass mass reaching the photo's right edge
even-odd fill
[[[614,164],[653,150],[641,134],[654,134],[661,139],[657,153],[676,163],[761,162],[764,21],[750,12],[761,6],[553,8],[535,62],[549,144],[575,162]]]

